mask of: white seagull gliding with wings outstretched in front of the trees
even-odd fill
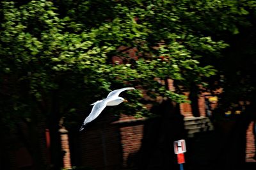
[[[128,89],[134,89],[134,88],[122,88],[122,89],[116,89],[114,91],[111,91],[108,94],[107,98],[104,98],[103,100],[98,100],[97,102],[91,104],[93,105],[92,107],[92,111],[90,112],[89,116],[87,116],[87,118],[84,120],[84,123],[82,125],[82,127],[80,128],[79,131],[82,131],[84,129],[84,126],[89,123],[90,121],[95,120],[95,118],[97,118],[100,114],[100,112],[103,111],[103,109],[107,106],[107,105],[118,105],[121,104],[122,102],[127,102],[127,100],[125,100],[122,97],[118,97],[118,95],[125,90]]]

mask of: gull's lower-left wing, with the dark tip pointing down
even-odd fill
[[[95,120],[95,118],[97,118],[99,116],[100,112],[102,112],[103,109],[105,109],[107,103],[108,103],[108,99],[103,99],[103,100],[99,100],[99,101],[95,102],[92,107],[92,111],[90,112],[89,116],[87,116],[85,118],[84,123],[83,123],[82,127],[79,129],[79,131],[82,131],[84,129],[84,126],[87,123]]]

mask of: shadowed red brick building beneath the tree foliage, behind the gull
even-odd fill
[[[166,114],[167,116],[164,115],[163,118],[152,120],[136,119],[125,115],[117,118],[106,111],[97,120],[90,123],[82,131],[83,133],[68,132],[64,127],[61,127],[61,146],[64,152],[63,167],[66,169],[84,167],[84,169],[99,170],[136,169],[140,167],[141,162],[144,166],[145,164],[148,165],[147,169],[161,167],[159,164],[175,166],[177,162],[175,162],[175,155],[171,146],[172,141],[184,137],[188,141],[188,150],[189,148],[191,150],[192,145],[193,147],[196,145],[193,139],[199,139],[197,134],[214,131],[211,121],[205,116],[203,96],[200,97],[198,105],[200,106],[201,116],[197,118],[193,118],[189,104],[182,104],[180,105],[180,116],[173,115],[172,109],[170,109],[171,116]],[[162,111],[159,110],[159,112]],[[179,121],[180,118],[182,118],[182,121]],[[233,121],[228,123],[223,132],[228,132],[230,130],[228,126],[232,127],[234,125]],[[49,167],[49,132],[47,132],[44,123],[37,126],[39,129],[38,136],[40,136],[38,138],[38,143],[40,143],[38,151],[42,153],[40,161]],[[29,139],[29,136],[26,136],[28,135],[26,134],[27,128],[26,123],[21,122],[19,124],[19,130],[22,130],[22,134],[24,134],[23,140]],[[186,136],[180,135],[182,132],[179,129],[182,128],[186,130]],[[244,159],[246,162],[255,162],[255,159],[253,159],[255,138],[252,121],[246,129],[244,137],[246,137]],[[11,136],[5,137],[1,141],[2,146],[12,145],[12,148],[2,148],[1,169],[35,169],[33,155],[28,150],[26,143],[20,141],[20,139],[20,132],[13,132]],[[189,143],[191,146],[189,146]],[[186,155],[186,159],[189,162],[189,153]],[[4,166],[3,160],[6,160],[10,167]],[[193,160],[193,162],[196,162],[196,160]]]

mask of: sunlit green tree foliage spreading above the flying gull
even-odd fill
[[[45,119],[56,131],[66,116],[78,127],[89,104],[124,86],[184,102],[182,90],[216,73],[205,61],[227,43],[212,37],[238,33],[248,6],[255,1],[2,1],[1,125]],[[142,91],[127,93],[124,113],[145,113]]]

